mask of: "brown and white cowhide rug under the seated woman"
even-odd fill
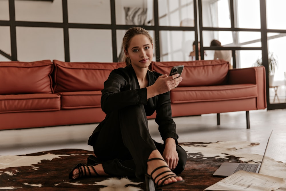
[[[185,170],[180,174],[184,178],[185,183],[176,186],[176,188],[164,189],[164,191],[202,191],[223,179],[212,176],[222,162],[259,163],[262,159],[261,155],[243,154],[236,151],[237,149],[258,144],[247,141],[180,143],[188,153]],[[27,155],[0,156],[0,191],[146,190],[144,182],[127,177],[93,177],[69,180],[69,171],[79,162],[86,163],[90,154],[92,154],[92,151],[61,149]],[[286,178],[286,163],[267,157],[261,173]]]

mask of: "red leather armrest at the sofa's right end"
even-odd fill
[[[228,84],[257,84],[257,109],[267,107],[264,66],[229,70]]]

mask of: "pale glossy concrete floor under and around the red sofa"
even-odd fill
[[[174,121],[179,135],[178,142],[253,141],[260,145],[239,151],[263,155],[273,130],[266,155],[286,162],[286,110],[257,110],[250,111],[249,115],[250,129],[246,129],[245,112],[221,113],[221,125],[217,125],[216,114],[176,117]],[[148,123],[153,139],[162,142],[155,121],[148,120]],[[87,140],[96,125],[0,131],[0,155],[21,155],[65,148],[92,151]]]

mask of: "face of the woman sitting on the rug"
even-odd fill
[[[124,53],[130,58],[133,67],[148,68],[153,59],[153,44],[147,36],[135,35]]]

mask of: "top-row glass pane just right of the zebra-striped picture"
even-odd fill
[[[160,26],[194,26],[193,1],[159,0],[158,9]]]

